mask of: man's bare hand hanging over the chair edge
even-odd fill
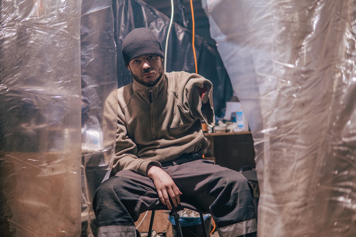
[[[169,197],[171,197],[173,205],[177,207],[180,204],[180,196],[182,193],[179,188],[163,169],[149,165],[147,167],[147,176],[153,180],[153,184],[157,189],[159,200],[167,206],[169,210],[172,209],[172,205],[169,202]]]

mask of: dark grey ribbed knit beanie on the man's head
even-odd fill
[[[125,65],[129,65],[129,62],[136,57],[148,54],[164,58],[161,43],[150,28],[133,29],[122,42]]]

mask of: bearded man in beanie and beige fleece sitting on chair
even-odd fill
[[[180,201],[209,212],[220,237],[256,236],[250,183],[202,157],[210,141],[201,120],[215,123],[211,82],[164,73],[162,46],[150,28],[133,29],[122,55],[133,82],[117,91],[116,174],[93,201],[99,236],[135,237],[142,212],[170,210]]]

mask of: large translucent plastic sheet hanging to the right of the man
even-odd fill
[[[203,5],[255,141],[258,236],[356,236],[356,2]]]

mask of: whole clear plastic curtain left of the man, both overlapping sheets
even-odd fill
[[[112,2],[0,6],[0,235],[87,236],[114,153]]]

